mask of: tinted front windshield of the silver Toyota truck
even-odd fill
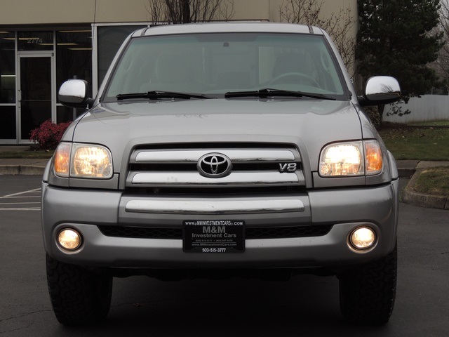
[[[229,98],[233,97],[229,93],[266,88],[335,99],[349,97],[321,36],[208,33],[131,39],[103,100],[159,91],[216,98],[228,93]],[[272,93],[276,95],[276,91]]]

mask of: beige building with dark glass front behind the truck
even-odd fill
[[[279,22],[289,0],[234,0],[232,20]],[[293,2],[296,2],[293,0]],[[323,0],[321,15],[356,0]],[[152,24],[148,0],[0,0],[0,145],[27,144],[43,121],[72,121],[82,111],[58,103],[67,79],[86,79],[95,95],[122,41]],[[351,34],[356,34],[356,25]]]

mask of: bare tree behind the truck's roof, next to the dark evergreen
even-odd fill
[[[284,0],[279,6],[279,18],[283,22],[317,26],[326,30],[340,52],[351,77],[354,77],[356,37],[351,36],[349,32],[356,23],[356,19],[349,7],[340,9],[338,13],[332,13],[328,18],[323,18],[322,6],[323,1]]]

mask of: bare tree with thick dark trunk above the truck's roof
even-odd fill
[[[229,20],[234,0],[148,0],[147,11],[154,25]]]

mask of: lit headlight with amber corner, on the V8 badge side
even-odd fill
[[[331,144],[320,155],[322,177],[373,176],[382,172],[382,151],[377,140]]]

